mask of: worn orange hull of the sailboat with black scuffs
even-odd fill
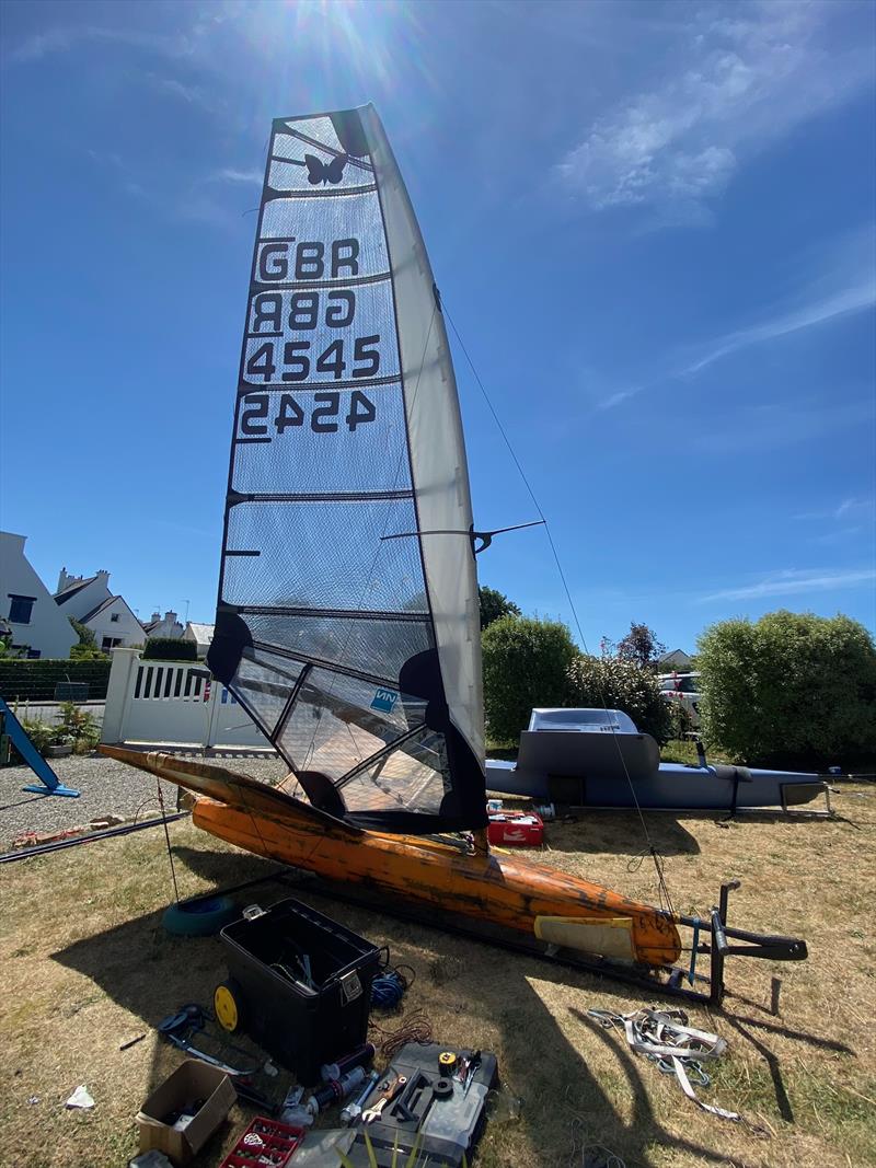
[[[350,828],[222,767],[119,748],[102,751],[194,791],[195,825],[257,855],[529,936],[536,918],[588,926],[623,922],[637,961],[672,965],[680,955],[670,915],[598,884],[486,850],[471,854],[420,836]]]

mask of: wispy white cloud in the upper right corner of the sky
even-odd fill
[[[865,44],[829,44],[841,5],[693,12],[672,72],[591,123],[557,171],[595,210],[649,204],[703,217],[739,161],[874,76]]]

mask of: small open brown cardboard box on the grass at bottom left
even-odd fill
[[[201,1150],[234,1106],[237,1096],[231,1079],[216,1066],[187,1058],[160,1087],[152,1092],[137,1114],[140,1152],[157,1148],[175,1164],[186,1164]],[[182,1131],[166,1120],[197,1099],[204,1103]]]

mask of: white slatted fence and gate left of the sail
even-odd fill
[[[237,700],[195,662],[113,649],[100,742],[193,750],[273,750]]]

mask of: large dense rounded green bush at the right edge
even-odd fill
[[[772,612],[700,637],[707,739],[746,763],[864,758],[876,743],[876,647],[849,617]]]

